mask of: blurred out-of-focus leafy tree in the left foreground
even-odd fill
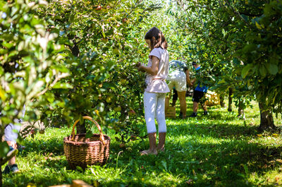
[[[37,14],[42,6],[47,2],[0,2],[0,137],[9,123],[23,119],[24,110],[25,120],[39,119],[39,108],[49,102],[44,93],[59,88],[58,80],[68,76],[60,71],[63,46],[56,43],[58,34],[48,32]],[[1,141],[1,165],[9,159],[7,152],[7,143]]]

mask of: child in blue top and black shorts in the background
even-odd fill
[[[200,64],[197,64],[197,62],[193,61],[192,66],[195,68],[196,75],[200,73]],[[207,92],[208,88],[205,85],[201,84],[200,80],[197,80],[196,78],[191,81],[192,85],[195,83],[197,84],[193,96],[192,96],[192,102],[193,102],[193,113],[190,115],[190,117],[197,117],[197,110],[199,106],[199,102],[202,104],[202,108],[204,109],[204,115],[207,115],[207,105],[205,102],[202,102],[202,99],[204,98],[205,93]]]

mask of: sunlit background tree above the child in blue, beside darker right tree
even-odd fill
[[[247,99],[242,95],[245,90],[244,83],[240,75],[235,71],[235,62],[230,60],[233,50],[228,50],[228,37],[225,30],[235,32],[235,29],[226,28],[226,23],[214,26],[214,8],[203,6],[198,2],[177,1],[171,4],[168,13],[176,17],[176,30],[185,35],[186,56],[189,61],[198,61],[202,66],[203,83],[221,95],[221,100],[226,92],[229,92],[228,111],[232,111],[232,97],[238,100],[238,116],[243,116],[243,104]],[[206,8],[204,8],[206,7]],[[225,30],[224,30],[224,29]],[[223,29],[223,30],[222,30]],[[219,31],[218,31],[219,30]],[[231,40],[232,41],[232,40]],[[183,43],[183,42],[181,42]],[[230,45],[229,47],[233,47]],[[235,81],[234,81],[235,80]],[[235,90],[233,95],[233,90]],[[222,102],[221,102],[222,104]]]

